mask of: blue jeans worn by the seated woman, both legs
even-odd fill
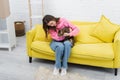
[[[70,56],[72,43],[69,40],[58,42],[53,40],[50,47],[55,51],[55,67],[56,68],[68,68],[68,58]]]

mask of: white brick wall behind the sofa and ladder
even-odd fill
[[[44,0],[44,13],[79,21],[99,21],[103,14],[120,24],[119,3],[120,0]],[[10,5],[14,18],[25,20],[26,30],[29,30],[28,0],[10,0]]]

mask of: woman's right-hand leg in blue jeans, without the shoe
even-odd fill
[[[72,43],[69,40],[64,41],[64,53],[63,53],[63,59],[62,59],[62,67],[67,69],[68,68],[68,58],[70,56],[71,52],[71,46]]]

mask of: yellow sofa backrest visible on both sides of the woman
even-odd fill
[[[97,22],[79,22],[79,21],[71,21],[76,27],[80,29],[80,32],[77,36],[75,36],[75,42],[79,43],[102,43],[101,40],[95,38],[90,35],[92,29],[94,29]],[[47,41],[50,42],[52,39],[50,35],[48,35],[48,39],[45,38],[45,33],[41,24],[35,25],[36,34],[34,37],[34,41]]]

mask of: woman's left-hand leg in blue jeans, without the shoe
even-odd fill
[[[55,51],[55,67],[60,69],[61,68],[61,58],[63,55],[63,51],[64,51],[64,45],[62,42],[56,42],[56,41],[52,41],[52,43],[50,44],[52,50]]]

